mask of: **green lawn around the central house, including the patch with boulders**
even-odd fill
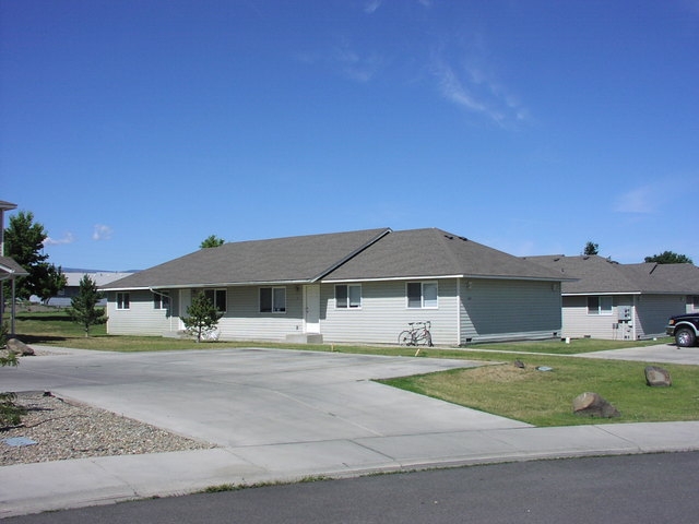
[[[216,342],[159,336],[110,336],[105,326],[85,337],[63,311],[17,314],[17,337],[28,344],[47,344],[114,352],[154,352],[194,348],[276,347],[415,357],[415,348],[365,345],[289,345],[268,342]],[[645,385],[645,362],[573,358],[567,355],[671,342],[577,340],[475,345],[465,348],[420,348],[417,358],[478,360],[487,366],[382,381],[420,394],[473,407],[535,426],[570,426],[600,422],[699,420],[699,366],[661,365],[673,379],[671,388]],[[688,349],[695,350],[695,349]],[[512,353],[513,352],[513,353]],[[513,360],[525,368],[513,366]],[[493,365],[491,362],[498,362]],[[537,371],[547,366],[550,371]],[[619,418],[591,419],[572,414],[572,400],[594,391],[614,404]]]

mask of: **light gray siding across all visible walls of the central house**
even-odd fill
[[[407,282],[437,283],[437,307],[410,308]],[[557,283],[435,278],[364,282],[359,308],[337,308],[335,284],[320,285],[320,332],[327,343],[396,344],[410,322],[431,322],[436,345],[459,345],[494,340],[560,336],[560,291]],[[227,310],[218,322],[220,340],[284,341],[304,332],[303,285],[285,286],[286,311],[262,313],[260,286],[226,289]],[[173,315],[156,310],[153,294],[130,291],[129,310],[116,310],[116,293],[108,305],[110,334],[176,335],[190,290],[173,290]],[[194,290],[196,293],[196,290]]]

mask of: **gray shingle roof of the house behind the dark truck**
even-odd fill
[[[564,294],[695,294],[699,267],[694,264],[619,264],[599,255],[526,257],[526,260],[578,278],[565,282]]]

